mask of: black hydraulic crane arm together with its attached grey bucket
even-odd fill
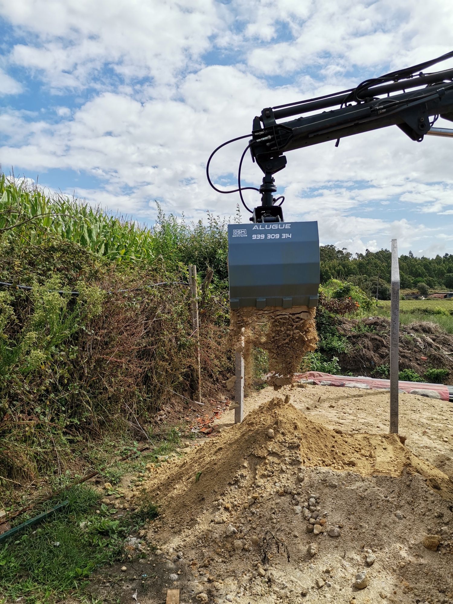
[[[453,121],[453,69],[423,73],[423,69],[453,57],[453,52],[385,76],[356,88],[299,103],[269,107],[253,120],[251,139],[239,162],[238,188],[261,194],[262,205],[250,219],[260,224],[228,225],[228,274],[231,309],[241,307],[313,307],[318,303],[320,248],[317,222],[283,223],[281,198],[274,198],[274,174],[286,165],[286,152],[350,137],[387,126],[398,126],[413,141],[426,133],[451,135],[453,130],[432,129],[439,117]],[[290,118],[290,119],[288,119]],[[284,121],[286,120],[286,121]],[[240,169],[250,150],[264,173],[259,189],[241,187]],[[249,208],[246,207],[247,210]],[[251,211],[251,210],[249,210]],[[264,223],[264,224],[263,224]]]

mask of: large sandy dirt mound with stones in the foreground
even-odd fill
[[[396,435],[330,430],[288,398],[150,478],[167,585],[183,602],[451,602],[448,477]]]

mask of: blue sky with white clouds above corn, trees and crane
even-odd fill
[[[449,0],[0,0],[0,25],[2,169],[152,224],[155,199],[189,219],[234,216],[237,196],[205,178],[214,147],[250,132],[265,106],[448,52],[453,11]],[[393,127],[289,152],[285,219],[318,220],[322,243],[353,252],[393,237],[401,252],[453,252],[452,144]],[[243,147],[216,156],[217,183],[234,183]],[[247,159],[244,183],[261,179]]]

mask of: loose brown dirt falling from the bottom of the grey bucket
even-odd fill
[[[244,346],[247,387],[252,381],[251,350],[254,346],[268,352],[269,371],[276,376],[275,385],[291,382],[303,356],[316,348],[315,312],[316,309],[307,306],[231,310],[230,342],[234,349]]]

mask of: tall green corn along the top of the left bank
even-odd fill
[[[26,181],[0,175],[0,234],[14,231],[24,245],[55,234],[109,260],[153,259],[152,230],[61,195],[47,196]]]

